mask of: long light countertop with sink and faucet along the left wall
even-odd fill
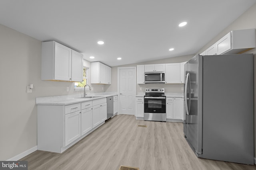
[[[48,96],[36,98],[36,105],[70,105],[80,102],[88,102],[91,100],[102,99],[110,96],[116,96],[117,92],[91,93],[88,96],[102,96],[98,98],[80,98],[84,94],[64,95],[64,96]]]

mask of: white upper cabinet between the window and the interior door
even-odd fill
[[[111,84],[111,67],[100,62],[92,62],[91,84]]]

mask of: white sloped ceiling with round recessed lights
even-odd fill
[[[0,23],[40,41],[62,43],[88,61],[117,66],[194,54],[255,2],[1,0]],[[182,21],[188,24],[178,27]]]

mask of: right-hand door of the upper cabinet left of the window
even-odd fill
[[[83,78],[83,55],[72,50],[71,80],[82,82]]]

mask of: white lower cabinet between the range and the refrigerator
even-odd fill
[[[183,120],[183,98],[166,98],[166,119]]]

